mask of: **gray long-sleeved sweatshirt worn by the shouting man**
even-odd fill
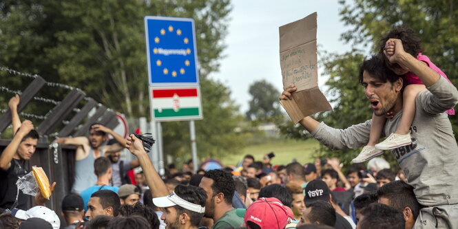
[[[421,91],[410,127],[413,143],[391,151],[424,206],[458,203],[458,146],[452,124],[444,113],[457,102],[457,88],[443,77]],[[387,120],[382,135],[393,133],[401,116],[399,111]],[[333,150],[355,149],[367,144],[370,129],[371,120],[347,129],[334,129],[322,122],[311,135]]]

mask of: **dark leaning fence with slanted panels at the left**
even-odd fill
[[[46,204],[49,208],[56,211],[61,217],[61,200],[65,195],[70,193],[74,181],[74,161],[76,147],[70,145],[50,144],[54,138],[68,136],[83,136],[87,135],[90,124],[94,122],[101,123],[110,129],[114,129],[118,125],[116,113],[107,107],[99,104],[94,99],[87,97],[81,89],[61,85],[59,83],[46,82],[41,76],[23,74],[21,72],[0,67],[0,72],[8,72],[15,76],[25,76],[32,78],[32,82],[23,90],[9,89],[6,85],[0,86],[0,91],[5,91],[9,94],[20,94],[21,102],[18,105],[18,113],[21,116],[32,116],[41,122],[34,122],[34,126],[40,135],[37,150],[31,159],[26,162],[29,170],[31,166],[41,166],[51,182],[56,182],[56,187],[51,195],[50,201]],[[48,98],[37,97],[37,93],[44,85],[51,87],[64,87],[70,92],[61,101],[51,100]],[[32,100],[47,102],[54,105],[45,116],[37,116],[34,114],[21,113],[23,109]],[[82,105],[83,104],[83,105]],[[78,107],[82,105],[82,107]],[[88,113],[92,112],[91,116]],[[72,116],[70,114],[73,114]],[[64,121],[70,119],[69,121]],[[6,130],[11,124],[11,111],[3,110],[0,116],[0,133]],[[63,124],[63,127],[62,127]],[[0,154],[10,144],[11,140],[0,138]],[[30,197],[33,199],[33,197]],[[32,203],[32,201],[30,201]],[[32,207],[32,206],[29,206]],[[65,223],[65,219],[61,218],[61,222]]]

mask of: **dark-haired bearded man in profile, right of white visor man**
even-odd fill
[[[232,207],[236,183],[230,173],[219,169],[207,171],[199,187],[207,193],[205,217],[214,220],[213,229],[238,228],[243,224],[243,217],[239,217]]]

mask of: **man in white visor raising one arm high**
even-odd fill
[[[205,190],[196,186],[178,185],[174,192],[169,194],[163,179],[160,178],[149,160],[143,148],[143,142],[134,135],[130,135],[125,147],[138,158],[143,175],[154,197],[154,204],[164,208],[164,212],[160,213],[162,214],[160,219],[167,224],[166,228],[197,228],[206,212],[207,194]]]

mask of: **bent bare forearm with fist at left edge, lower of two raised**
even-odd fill
[[[21,129],[17,131],[14,135],[14,138],[11,140],[10,144],[6,146],[6,149],[3,150],[3,153],[0,155],[0,168],[4,171],[8,170],[11,166],[11,160],[14,157],[14,154],[21,144],[22,138],[25,137],[32,129],[34,129],[32,122],[30,120],[25,120],[21,124]]]

